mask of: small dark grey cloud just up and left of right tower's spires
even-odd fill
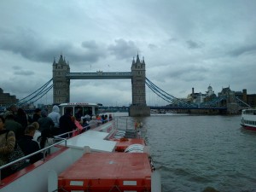
[[[115,44],[108,46],[112,55],[118,59],[131,60],[131,55],[135,55],[139,49],[133,41],[125,41],[124,39],[116,39]]]

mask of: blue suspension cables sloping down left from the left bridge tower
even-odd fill
[[[53,84],[49,85],[49,83],[51,81],[52,81],[52,79],[49,79],[49,81],[46,84],[44,84],[38,90],[35,90],[34,92],[32,92],[32,94],[20,99],[20,101],[17,104],[24,105],[27,102],[31,102],[31,103],[37,102],[40,98],[42,98],[44,95],[46,95],[49,92],[49,90],[51,90],[53,88]]]

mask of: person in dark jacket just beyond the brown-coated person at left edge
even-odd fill
[[[4,113],[4,117],[5,117],[5,124],[4,124],[5,129],[9,131],[14,131],[15,138],[18,141],[20,137],[22,137],[24,134],[22,125],[20,125],[20,123],[15,121],[15,116],[11,112]]]

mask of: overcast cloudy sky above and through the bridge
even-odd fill
[[[1,0],[0,87],[21,99],[71,72],[130,72],[175,97],[224,87],[256,93],[255,0]],[[71,102],[131,103],[131,80],[71,80]],[[38,102],[51,103],[52,91]],[[148,105],[161,100],[147,89]]]

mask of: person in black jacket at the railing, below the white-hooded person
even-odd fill
[[[40,147],[37,142],[33,141],[34,134],[36,132],[36,127],[33,125],[28,125],[25,130],[25,134],[20,138],[18,144],[25,155],[32,154],[37,152]],[[33,164],[38,160],[42,160],[44,158],[43,153],[35,154],[29,158],[29,163]]]

